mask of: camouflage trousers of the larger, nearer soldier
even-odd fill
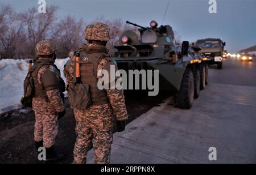
[[[93,144],[94,161],[97,164],[109,164],[113,131],[100,131],[85,127],[82,122],[76,124],[76,143],[74,148],[75,164],[86,163],[86,155]]]

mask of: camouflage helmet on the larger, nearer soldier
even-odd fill
[[[92,23],[85,28],[85,40],[109,41],[109,25],[103,23]]]

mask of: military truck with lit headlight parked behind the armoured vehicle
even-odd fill
[[[216,65],[218,69],[222,69],[223,67],[223,54],[224,54],[224,46],[226,42],[221,39],[201,39],[196,41],[196,45],[201,48],[201,53],[208,58],[208,63],[210,65]]]

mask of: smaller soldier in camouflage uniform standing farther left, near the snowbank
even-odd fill
[[[65,84],[61,84],[63,80],[60,70],[54,65],[55,46],[50,41],[40,41],[36,45],[36,54],[36,69],[31,74],[35,84],[32,100],[35,112],[35,146],[36,150],[42,146],[46,148],[47,160],[57,160],[63,157],[55,153],[53,144],[58,130],[58,118],[65,114],[63,89],[60,89]]]

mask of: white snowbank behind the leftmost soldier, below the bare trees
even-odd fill
[[[61,77],[65,80],[63,67],[69,58],[56,59]],[[0,113],[20,106],[23,95],[23,80],[28,71],[28,59],[0,60]]]

